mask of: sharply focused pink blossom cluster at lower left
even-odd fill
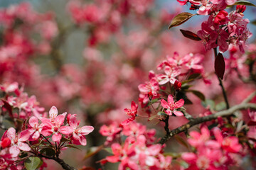
[[[3,161],[3,164],[1,164],[4,167],[3,169],[10,167],[11,164],[17,161],[21,151],[29,152],[32,150],[32,153],[37,155],[43,151],[43,148],[50,148],[54,145],[54,142],[56,145],[54,152],[56,153],[66,147],[65,142],[70,145],[85,146],[87,144],[85,135],[92,132],[94,128],[92,126],[79,127],[80,120],[76,118],[76,115],[71,114],[68,114],[67,123],[64,124],[66,115],[67,113],[58,115],[57,108],[53,106],[50,108],[49,118],[32,116],[28,120],[28,125],[26,125],[26,122],[23,123],[21,132],[16,133],[14,128],[6,130],[0,142],[0,159]],[[50,137],[53,142],[50,142]],[[13,169],[16,169],[16,167],[13,167]]]

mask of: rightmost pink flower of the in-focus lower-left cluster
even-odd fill
[[[73,134],[71,140],[75,145],[83,145],[87,144],[85,135],[88,135],[90,132],[94,130],[92,126],[82,126],[79,128],[80,120],[77,120],[76,115],[71,115],[68,121],[71,128],[73,128]]]

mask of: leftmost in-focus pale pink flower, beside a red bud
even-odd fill
[[[24,130],[16,135],[16,130],[14,128],[9,128],[9,130],[6,132],[6,136],[11,140],[9,152],[12,154],[12,157],[17,157],[20,150],[31,150],[31,148],[25,143],[30,136],[30,132],[28,132],[28,130]]]

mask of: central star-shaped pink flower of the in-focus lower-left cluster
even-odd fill
[[[49,136],[53,134],[52,139],[53,142],[60,142],[62,137],[61,133],[64,135],[69,135],[73,132],[73,128],[70,126],[61,126],[64,123],[66,112],[58,115],[58,110],[55,106],[50,108],[49,111],[50,119],[41,118],[43,129],[41,134],[44,136]]]

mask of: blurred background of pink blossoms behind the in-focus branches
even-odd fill
[[[100,126],[127,118],[123,109],[129,108],[131,101],[139,103],[137,87],[148,80],[150,70],[157,72],[156,66],[166,55],[205,55],[205,72],[212,84],[202,80],[194,88],[206,98],[221,101],[213,52],[206,52],[201,42],[188,40],[179,31],[196,33],[207,17],[196,16],[168,30],[171,19],[188,8],[171,0],[0,0],[0,83],[17,81],[47,112],[56,106],[59,113],[77,114],[82,125],[94,126],[95,131],[87,135],[87,146],[80,147],[81,151],[68,149],[61,157],[72,166],[100,168],[97,161],[107,152],[82,159],[91,147],[105,142],[98,132]],[[251,21],[250,43],[255,42],[255,13],[250,6],[244,13]],[[240,102],[237,96],[247,96],[255,88],[248,85],[241,90],[235,78],[225,79],[230,79],[225,86],[231,103]],[[194,103],[187,106],[192,115],[206,111],[198,98],[189,97]],[[161,123],[138,121],[164,136]],[[186,119],[176,118],[170,128],[184,122]],[[176,145],[176,141],[169,145]],[[186,148],[169,149],[176,152]],[[48,168],[61,169],[54,162]]]

